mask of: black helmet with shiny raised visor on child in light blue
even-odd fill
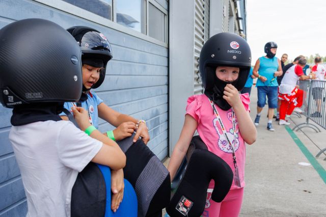
[[[73,26],[67,31],[75,38],[82,48],[82,62],[85,59],[100,59],[103,61],[103,69],[100,71],[98,81],[92,88],[98,88],[104,81],[106,64],[112,59],[112,49],[106,37],[99,31],[87,26]]]

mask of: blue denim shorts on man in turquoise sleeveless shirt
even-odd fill
[[[268,108],[277,108],[277,99],[278,99],[278,86],[268,87],[268,86],[259,86],[258,90],[258,107],[264,107],[266,103],[266,96],[268,99]]]

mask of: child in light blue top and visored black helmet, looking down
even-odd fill
[[[67,30],[82,48],[83,93],[78,102],[65,102],[64,107],[71,111],[71,107],[81,106],[88,112],[89,122],[98,129],[98,117],[117,127],[103,133],[114,141],[130,137],[134,131],[133,141],[139,137],[145,144],[149,141],[148,129],[144,120],[137,120],[131,116],[121,114],[107,106],[96,93],[91,92],[101,86],[105,78],[107,62],[113,57],[111,45],[107,38],[95,29],[87,26],[74,26]],[[61,113],[64,120],[68,120],[69,113]],[[73,120],[73,118],[70,118]],[[112,209],[119,207],[123,198],[123,171],[112,171]]]

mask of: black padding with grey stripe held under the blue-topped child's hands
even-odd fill
[[[170,202],[170,173],[142,140],[133,143],[133,137],[117,141],[126,155],[124,177],[137,194],[138,216],[157,216]]]

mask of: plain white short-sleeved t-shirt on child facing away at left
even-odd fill
[[[28,203],[26,216],[70,216],[71,190],[102,147],[70,121],[12,126],[9,134]]]

